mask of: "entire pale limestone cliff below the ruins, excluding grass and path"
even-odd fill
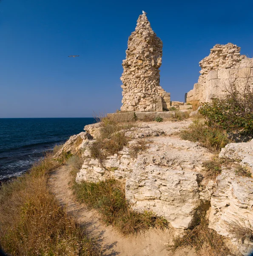
[[[103,163],[92,158],[89,150],[96,141],[92,135],[99,133],[99,124],[88,125],[86,133],[71,137],[64,150],[75,151],[77,144],[82,148],[84,163],[76,182],[115,178],[124,184],[125,196],[134,210],[152,210],[179,230],[193,227],[199,210],[210,212],[209,227],[229,238],[248,256],[253,250],[253,237],[239,236],[238,230],[253,232],[253,178],[237,175],[233,164],[253,174],[253,141],[230,143],[223,148],[219,157],[233,161],[222,166],[218,177],[210,179],[203,162],[212,159],[213,154],[199,143],[181,140],[177,135],[190,123],[138,122],[124,131],[128,145],[118,154],[106,157]],[[75,143],[77,139],[79,142]],[[148,140],[147,149],[133,155],[131,145],[139,140]]]

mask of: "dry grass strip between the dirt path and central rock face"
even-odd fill
[[[139,213],[131,210],[125,199],[122,184],[116,180],[76,183],[73,189],[78,201],[97,209],[102,215],[102,220],[106,224],[114,225],[124,236],[150,227],[163,229],[168,225],[164,218],[156,216],[153,212]]]

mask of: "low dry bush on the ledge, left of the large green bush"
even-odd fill
[[[203,147],[216,153],[225,147],[229,140],[226,134],[219,128],[208,127],[200,120],[195,120],[186,130],[180,132],[183,140],[200,142]]]

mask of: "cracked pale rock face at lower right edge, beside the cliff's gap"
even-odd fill
[[[251,255],[253,241],[244,243],[230,232],[230,225],[236,223],[253,232],[253,179],[235,175],[234,169],[223,169],[217,177],[216,189],[211,197],[209,228],[230,238],[240,252]]]

